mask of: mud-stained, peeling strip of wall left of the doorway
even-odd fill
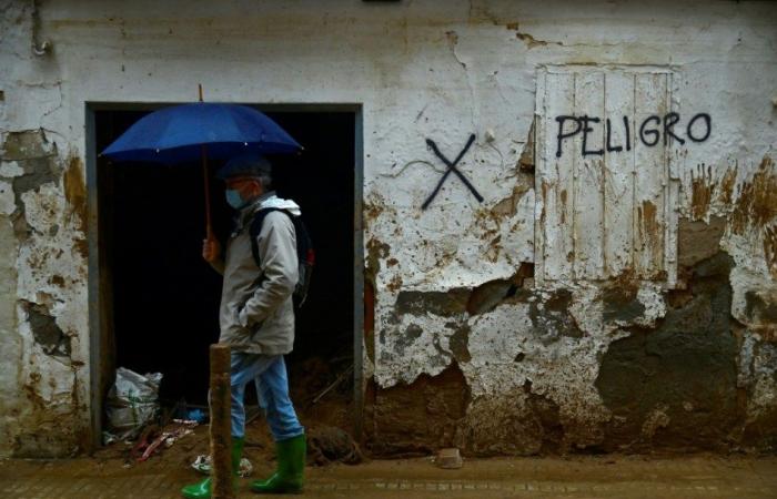
[[[43,130],[0,142],[3,210],[3,454],[63,456],[89,445],[85,195],[78,157]],[[21,424],[20,424],[21,422]]]

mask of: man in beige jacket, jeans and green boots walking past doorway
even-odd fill
[[[220,343],[232,348],[232,469],[236,476],[245,437],[245,385],[256,379],[266,420],[275,440],[278,470],[251,483],[255,492],[302,490],[305,432],[289,398],[283,356],[294,344],[292,292],[299,278],[296,236],[286,213],[265,215],[256,237],[259,264],[251,243],[251,223],[262,208],[282,208],[300,215],[300,206],[271,191],[272,169],[256,154],[230,160],[219,172],[226,184],[226,201],[238,211],[236,226],[224,258],[215,240],[203,242],[202,257],[223,274]],[[211,479],[186,486],[189,499],[211,497]]]

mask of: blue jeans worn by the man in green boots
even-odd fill
[[[232,354],[232,436],[245,436],[245,385],[256,381],[260,405],[275,441],[305,432],[289,398],[286,364],[282,355]]]

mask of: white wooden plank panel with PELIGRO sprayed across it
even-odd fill
[[[539,70],[537,284],[618,276],[675,284],[672,77],[643,68]]]

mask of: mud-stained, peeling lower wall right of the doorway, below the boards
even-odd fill
[[[734,200],[728,212],[750,203]],[[475,287],[400,289],[375,329],[392,378],[369,390],[372,450],[774,451],[777,295],[737,267],[730,221],[679,220],[674,287],[629,274],[538,287],[524,263]]]

